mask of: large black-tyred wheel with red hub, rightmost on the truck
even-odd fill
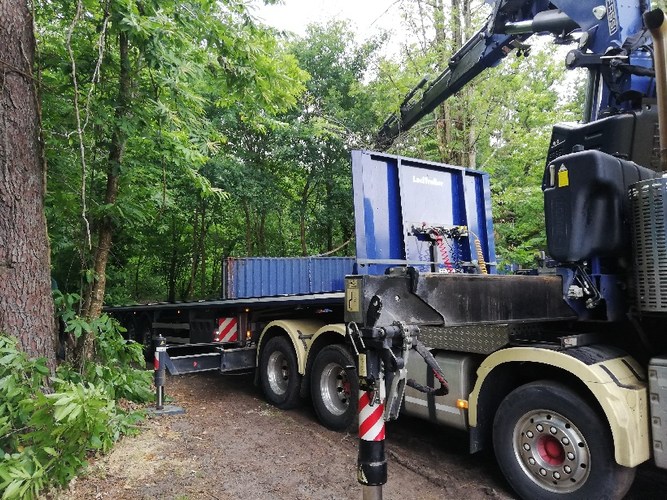
[[[614,460],[606,421],[576,392],[548,380],[502,401],[493,447],[505,478],[526,499],[618,499],[635,476]]]

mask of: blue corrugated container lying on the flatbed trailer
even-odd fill
[[[351,257],[244,257],[225,262],[224,297],[243,299],[342,292]]]

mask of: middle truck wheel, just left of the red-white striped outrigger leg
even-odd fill
[[[354,360],[345,347],[330,345],[313,362],[310,393],[315,413],[322,425],[347,430],[357,422],[359,380]]]

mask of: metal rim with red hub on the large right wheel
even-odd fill
[[[574,423],[554,411],[526,413],[514,427],[514,453],[526,475],[554,493],[581,487],[590,474],[590,449]]]

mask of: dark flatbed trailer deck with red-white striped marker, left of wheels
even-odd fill
[[[343,292],[285,295],[196,302],[155,303],[109,308],[128,325],[130,338],[154,351],[156,336],[167,342],[165,358],[171,375],[217,370],[234,372],[256,366],[257,345],[253,329],[267,318],[283,315],[340,321]]]

